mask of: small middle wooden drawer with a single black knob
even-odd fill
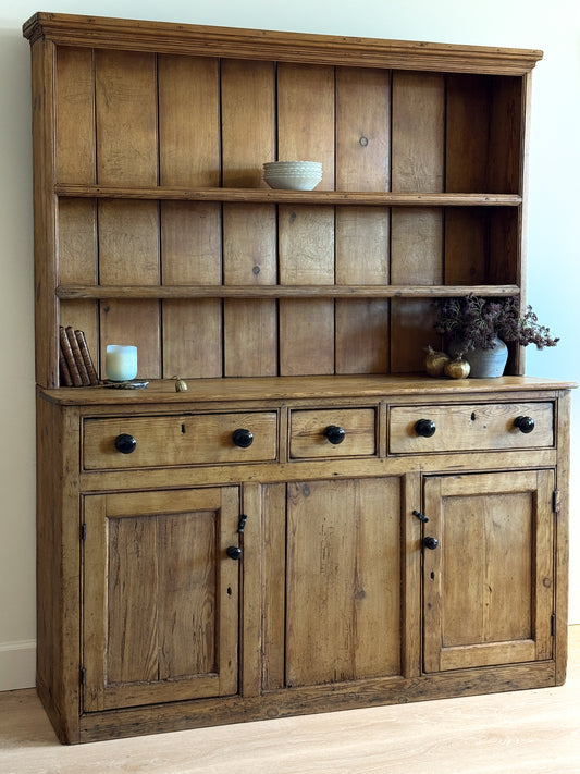
[[[291,414],[289,456],[357,457],[377,453],[374,408],[296,410]]]

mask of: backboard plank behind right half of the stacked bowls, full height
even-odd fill
[[[334,188],[334,70],[277,66],[277,157],[320,161],[320,189]],[[279,272],[283,284],[334,283],[334,210],[280,207]],[[316,333],[314,333],[316,332]],[[280,372],[334,372],[334,302],[280,300]]]

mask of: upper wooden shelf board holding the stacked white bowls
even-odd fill
[[[374,191],[281,191],[271,188],[177,188],[171,186],[57,185],[61,197],[237,201],[280,205],[355,205],[375,207],[518,207],[516,194],[434,194]]]

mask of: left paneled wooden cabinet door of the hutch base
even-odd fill
[[[89,495],[86,712],[236,693],[234,487]]]

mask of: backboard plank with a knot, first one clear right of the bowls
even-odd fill
[[[336,70],[336,188],[388,191],[391,76]],[[388,208],[336,208],[336,283],[388,284]],[[335,302],[336,373],[388,366],[388,302]]]

